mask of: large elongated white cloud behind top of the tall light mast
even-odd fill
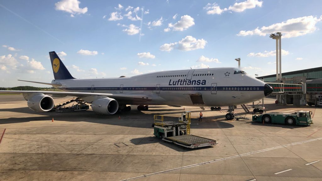
[[[317,22],[322,20],[322,15],[320,18],[313,16],[303,16],[299,18],[292,18],[281,23],[272,24],[270,26],[262,26],[260,29],[257,27],[254,30],[250,31],[240,31],[238,36],[247,36],[247,35],[260,35],[266,36],[266,34],[274,32],[282,32],[283,38],[291,38],[302,36],[307,33],[314,32],[317,27],[315,26]]]

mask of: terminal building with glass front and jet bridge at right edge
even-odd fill
[[[279,103],[294,105],[318,105],[312,103],[312,95],[322,97],[322,67],[282,73],[283,85],[277,84],[276,74],[257,77],[264,82],[272,82],[279,94]],[[275,87],[274,87],[275,86]],[[321,95],[321,96],[317,96]]]

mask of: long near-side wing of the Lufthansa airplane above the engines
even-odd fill
[[[110,93],[94,93],[94,92],[61,92],[61,91],[38,91],[38,90],[0,90],[0,93],[41,93],[49,95],[65,95],[75,97],[87,97],[87,96],[106,96],[116,100],[130,101],[130,102],[145,102],[152,101],[151,95],[145,94],[110,94]]]

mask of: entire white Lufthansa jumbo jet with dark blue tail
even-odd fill
[[[148,105],[228,106],[226,119],[234,118],[234,105],[263,99],[273,92],[263,81],[247,75],[238,68],[207,68],[159,71],[132,77],[76,79],[67,70],[56,52],[49,52],[54,80],[52,85],[62,91],[7,91],[23,93],[28,107],[47,112],[55,106],[52,97],[74,96],[91,104],[99,114],[111,115],[129,111],[148,110]],[[23,81],[23,80],[19,80]]]

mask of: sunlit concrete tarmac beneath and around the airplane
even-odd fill
[[[1,95],[0,180],[322,180],[322,109],[274,101],[264,99],[267,112],[310,110],[314,124],[256,123],[240,106],[235,112],[250,120],[225,120],[227,107],[185,107],[192,111],[191,134],[218,142],[189,149],[156,138],[151,127],[153,115],[176,121],[183,107],[42,113],[22,95]]]

